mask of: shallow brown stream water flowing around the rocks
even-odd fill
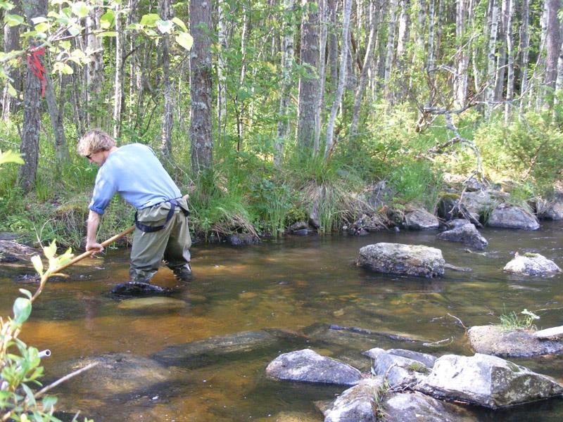
[[[334,399],[343,388],[276,382],[265,378],[265,366],[279,352],[311,347],[325,355],[363,365],[360,352],[372,347],[404,347],[437,356],[448,352],[472,354],[465,326],[498,322],[498,315],[522,309],[538,312],[538,328],[563,325],[563,276],[523,278],[502,272],[514,252],[539,252],[560,266],[563,224],[544,223],[540,231],[483,229],[489,246],[485,255],[464,252],[464,246],[435,240],[435,232],[381,232],[351,238],[312,236],[264,242],[248,248],[224,245],[192,249],[194,281],[172,297],[184,309],[172,312],[132,312],[119,309],[108,295],[115,283],[127,280],[128,251],[109,251],[68,270],[66,281],[50,283],[25,324],[23,340],[49,348],[46,373],[61,362],[106,352],[130,352],[142,357],[194,340],[281,328],[301,331],[315,323],[353,326],[401,333],[426,341],[450,339],[436,347],[421,343],[358,338],[341,345],[287,342],[279,350],[249,352],[217,359],[198,369],[176,368],[176,381],[147,385],[132,394],[99,399],[64,387],[59,409],[81,409],[96,421],[267,421],[281,414],[296,420],[322,421],[316,400]],[[358,250],[377,242],[431,245],[445,260],[472,273],[447,270],[440,279],[414,279],[372,274],[355,267]],[[11,312],[18,295],[11,280],[23,269],[6,267],[0,278],[0,314]],[[160,286],[175,286],[172,273],[161,269]],[[559,358],[513,359],[563,381]],[[179,376],[178,376],[179,375]],[[505,411],[474,409],[483,421],[555,421],[563,418],[563,401],[552,399]]]

